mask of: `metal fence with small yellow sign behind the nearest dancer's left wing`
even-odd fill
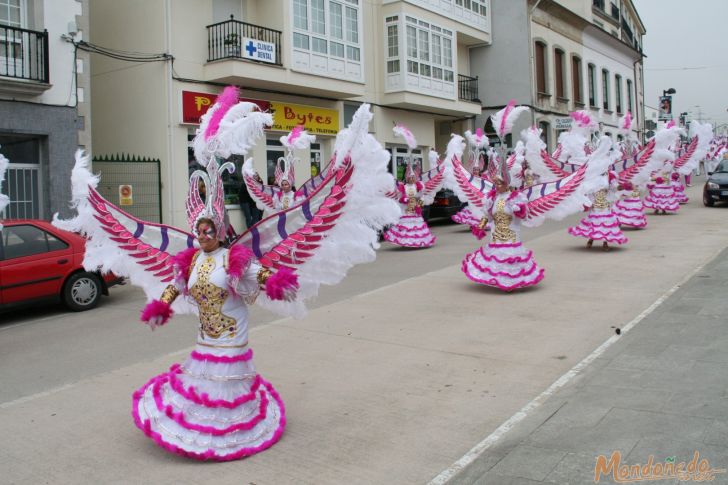
[[[159,160],[132,155],[94,158],[101,176],[98,192],[125,212],[149,222],[162,222],[162,182]]]

